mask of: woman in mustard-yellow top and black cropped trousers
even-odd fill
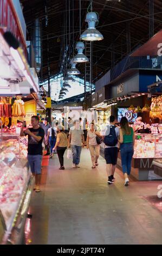
[[[64,170],[64,165],[63,165],[63,155],[65,150],[67,149],[67,135],[64,133],[64,128],[62,125],[57,126],[57,139],[56,139],[56,144],[53,150],[57,150],[57,155],[59,157],[60,161],[60,170]]]

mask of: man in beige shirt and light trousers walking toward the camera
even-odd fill
[[[83,136],[83,130],[80,127],[80,121],[75,120],[74,126],[70,128],[68,147],[70,148],[70,142],[73,152],[73,167],[78,167],[80,163],[81,150],[85,146],[85,138]]]

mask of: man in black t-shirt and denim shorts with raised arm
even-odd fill
[[[28,162],[30,164],[31,172],[35,176],[35,191],[40,192],[44,130],[39,125],[39,118],[37,115],[33,115],[31,118],[31,125],[33,128],[23,131],[25,127],[25,123],[23,123],[20,135],[28,135]]]

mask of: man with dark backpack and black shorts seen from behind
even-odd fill
[[[118,137],[119,127],[115,127],[115,117],[111,115],[109,117],[109,125],[106,126],[105,131],[101,132],[103,143],[105,143],[105,160],[106,160],[106,172],[108,175],[107,184],[110,185],[115,180],[114,172],[118,159]]]

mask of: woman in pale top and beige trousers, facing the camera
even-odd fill
[[[87,149],[90,151],[90,156],[92,159],[92,168],[98,166],[98,159],[100,155],[100,145],[96,142],[96,135],[100,136],[99,132],[94,129],[94,123],[90,124],[90,130],[87,133]]]

